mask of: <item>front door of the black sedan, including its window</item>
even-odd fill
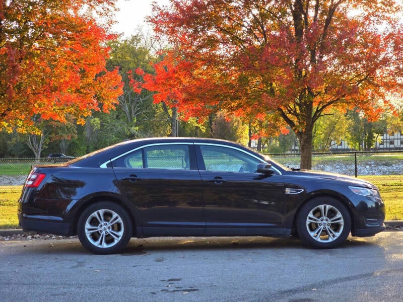
[[[282,175],[256,173],[260,159],[230,146],[196,145],[206,235],[282,235]]]

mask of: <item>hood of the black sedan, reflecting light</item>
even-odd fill
[[[299,171],[292,171],[291,172],[295,176],[299,177],[307,177],[310,179],[317,179],[317,180],[322,180],[322,181],[340,181],[344,182],[348,185],[351,186],[359,186],[359,187],[367,187],[371,189],[378,189],[375,185],[372,183],[358,179],[355,177],[343,175],[343,174],[337,174],[337,173],[328,173],[328,172],[320,172],[320,171],[312,171],[312,170],[299,170]]]

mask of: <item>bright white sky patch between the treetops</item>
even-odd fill
[[[169,0],[154,0],[158,5],[168,6]],[[151,15],[151,3],[153,0],[117,0],[117,7],[120,9],[116,13],[115,20],[118,21],[112,30],[117,33],[124,33],[129,37],[135,33],[138,25],[147,26],[145,17]]]

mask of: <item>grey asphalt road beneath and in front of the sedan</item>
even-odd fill
[[[132,239],[92,255],[72,239],[0,241],[0,301],[401,301],[403,232],[312,250],[299,239]]]

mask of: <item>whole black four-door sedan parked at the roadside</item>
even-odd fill
[[[385,211],[366,181],[292,171],[225,140],[148,138],[32,167],[18,217],[110,254],[153,236],[294,235],[334,248],[383,231]]]

